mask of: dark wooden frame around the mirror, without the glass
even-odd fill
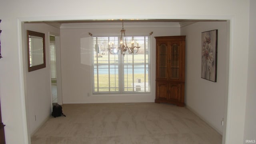
[[[43,63],[42,64],[38,64],[35,66],[30,66],[30,47],[29,47],[29,36],[38,36],[38,37],[42,37],[43,39]],[[46,61],[45,61],[45,34],[44,33],[40,33],[40,32],[33,32],[30,30],[27,30],[27,44],[28,44],[28,72],[34,71],[34,70],[39,70],[41,68],[45,68],[46,67]]]

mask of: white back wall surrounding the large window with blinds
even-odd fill
[[[88,26],[90,25],[90,26]],[[132,25],[132,26],[131,26]],[[62,63],[62,95],[63,103],[106,103],[106,102],[154,102],[155,76],[156,76],[156,40],[154,36],[180,35],[179,24],[163,27],[164,24],[153,23],[129,23],[124,22],[126,35],[145,34],[151,35],[151,92],[150,94],[116,94],[116,95],[92,95],[91,81],[91,32],[94,36],[106,34],[118,34],[122,29],[122,22],[94,23],[94,24],[68,24],[60,30],[61,39],[61,63]],[[84,27],[84,28],[80,28]],[[114,28],[113,28],[114,27]],[[140,27],[140,28],[138,28]],[[157,28],[158,27],[158,28]],[[90,96],[88,96],[88,93]]]

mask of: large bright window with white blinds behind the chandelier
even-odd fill
[[[109,42],[119,46],[117,36],[92,37],[93,94],[150,92],[150,36],[128,36],[127,42],[132,39],[138,52],[123,56],[108,52]]]

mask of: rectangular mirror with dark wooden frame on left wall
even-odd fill
[[[28,72],[46,67],[45,36],[40,32],[27,30]]]

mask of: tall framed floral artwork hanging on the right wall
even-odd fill
[[[202,32],[201,78],[217,80],[217,41],[218,30]]]

